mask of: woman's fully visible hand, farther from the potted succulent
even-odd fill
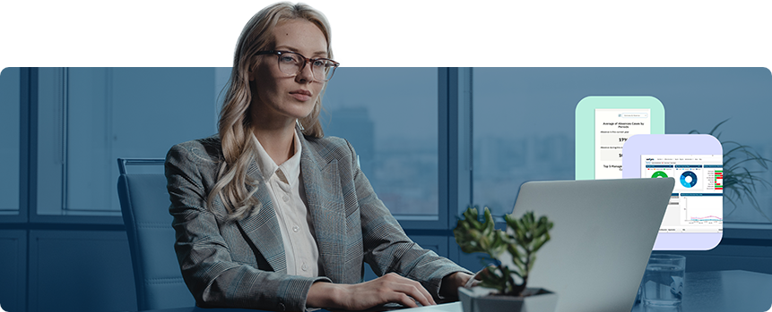
[[[437,304],[420,282],[389,273],[375,280],[358,284],[315,282],[308,290],[306,306],[361,310],[395,302],[405,307],[415,308],[418,307],[415,301],[423,306]]]

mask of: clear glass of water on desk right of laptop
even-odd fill
[[[641,285],[641,299],[647,306],[678,306],[683,297],[686,257],[653,254],[648,259]]]

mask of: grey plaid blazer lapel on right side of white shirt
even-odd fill
[[[313,218],[314,232],[317,234],[319,257],[325,269],[325,275],[333,282],[343,282],[343,258],[345,257],[345,206],[338,162],[329,164],[318,156],[317,150],[307,144],[300,136],[303,146],[300,155],[300,171],[306,189],[308,210]]]

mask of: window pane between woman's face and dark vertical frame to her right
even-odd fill
[[[322,103],[325,135],[351,142],[392,214],[437,220],[437,67],[342,67]]]

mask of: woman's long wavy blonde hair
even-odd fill
[[[207,206],[212,209],[215,197],[220,197],[223,206],[228,210],[229,221],[246,217],[256,207],[259,211],[260,202],[253,197],[258,181],[247,176],[247,167],[256,154],[256,145],[251,136],[251,117],[249,104],[252,99],[252,89],[249,87],[249,71],[257,63],[258,51],[273,48],[273,28],[282,21],[310,21],[322,30],[327,40],[327,57],[334,57],[333,28],[325,13],[305,3],[280,1],[265,6],[254,13],[239,32],[236,46],[233,48],[232,70],[230,79],[223,91],[218,130],[220,134],[222,156],[217,182],[207,198]],[[259,84],[255,91],[259,92]],[[322,109],[322,96],[326,89],[317,97],[314,109],[307,117],[299,120],[300,128],[306,136],[322,138],[324,131],[319,122]],[[252,190],[247,190],[247,185]]]

